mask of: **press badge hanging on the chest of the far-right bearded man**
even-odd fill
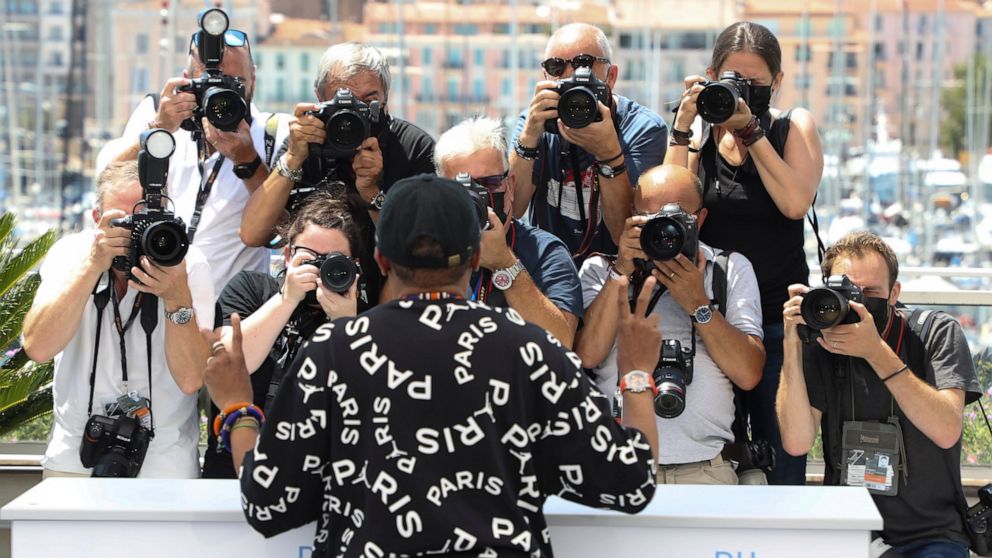
[[[880,496],[899,493],[902,430],[896,417],[888,422],[845,422],[842,448],[845,485],[863,486]]]

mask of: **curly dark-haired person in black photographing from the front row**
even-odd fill
[[[366,303],[359,300],[357,276],[351,276],[344,292],[335,292],[324,284],[322,270],[316,264],[331,254],[350,258],[358,252],[358,231],[344,202],[330,199],[326,194],[311,196],[287,224],[282,236],[289,240],[283,247],[286,269],[282,281],[267,273],[242,271],[228,283],[217,301],[224,323],[220,333],[227,344],[232,335],[231,314],[242,317],[244,354],[251,373],[254,404],[263,409],[274,396],[296,351],[319,326],[367,309]],[[208,424],[213,424],[219,413],[220,409],[211,406]],[[207,439],[203,476],[236,477],[230,456],[217,452],[215,436]]]

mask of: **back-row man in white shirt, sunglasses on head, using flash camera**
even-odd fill
[[[223,14],[209,10],[202,17],[219,17],[217,12]],[[134,160],[138,136],[146,129],[164,128],[176,137],[169,193],[176,213],[195,229],[191,235],[194,245],[210,262],[214,292],[220,292],[241,270],[268,271],[268,250],[246,246],[238,236],[238,228],[249,196],[269,175],[275,148],[287,137],[289,128],[287,118],[260,112],[252,102],[255,64],[247,35],[237,29],[227,29],[222,38],[201,39],[201,35],[206,33],[197,31],[190,38],[187,69],[182,77],[165,82],[157,106],[155,96],[148,96],[131,115],[121,138],[127,147],[117,160]],[[205,116],[194,116],[204,95],[189,89],[194,80],[208,74],[208,67],[200,59],[201,40],[223,45],[216,70],[244,87],[248,116],[231,131],[218,129]],[[202,128],[206,150],[202,160],[194,133],[189,130],[197,125]]]

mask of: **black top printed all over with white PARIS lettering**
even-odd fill
[[[245,456],[265,536],[317,521],[314,556],[552,556],[557,494],[636,512],[650,446],[580,360],[512,309],[393,301],[321,326]],[[525,554],[529,555],[529,554]]]

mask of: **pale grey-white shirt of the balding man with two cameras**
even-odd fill
[[[706,256],[706,295],[713,298],[712,248],[702,242],[699,250]],[[586,309],[596,300],[609,277],[609,262],[593,256],[582,264],[579,281],[582,283],[582,302]],[[730,324],[747,335],[762,337],[761,298],[758,280],[751,262],[734,252],[727,263],[727,301],[724,317]],[[678,339],[682,347],[691,347],[689,337],[692,322],[689,315],[670,292],[658,299],[654,313],[661,316],[659,328],[662,339]],[[594,369],[596,385],[612,402],[617,390],[617,346],[614,342],[610,354]],[[650,371],[649,371],[650,372]],[[658,462],[664,465],[692,463],[713,459],[723,451],[726,443],[734,441],[731,426],[734,422],[734,390],[730,379],[720,371],[710,358],[698,332],[696,357],[693,359],[692,383],[686,386],[685,410],[681,415],[658,418]]]

